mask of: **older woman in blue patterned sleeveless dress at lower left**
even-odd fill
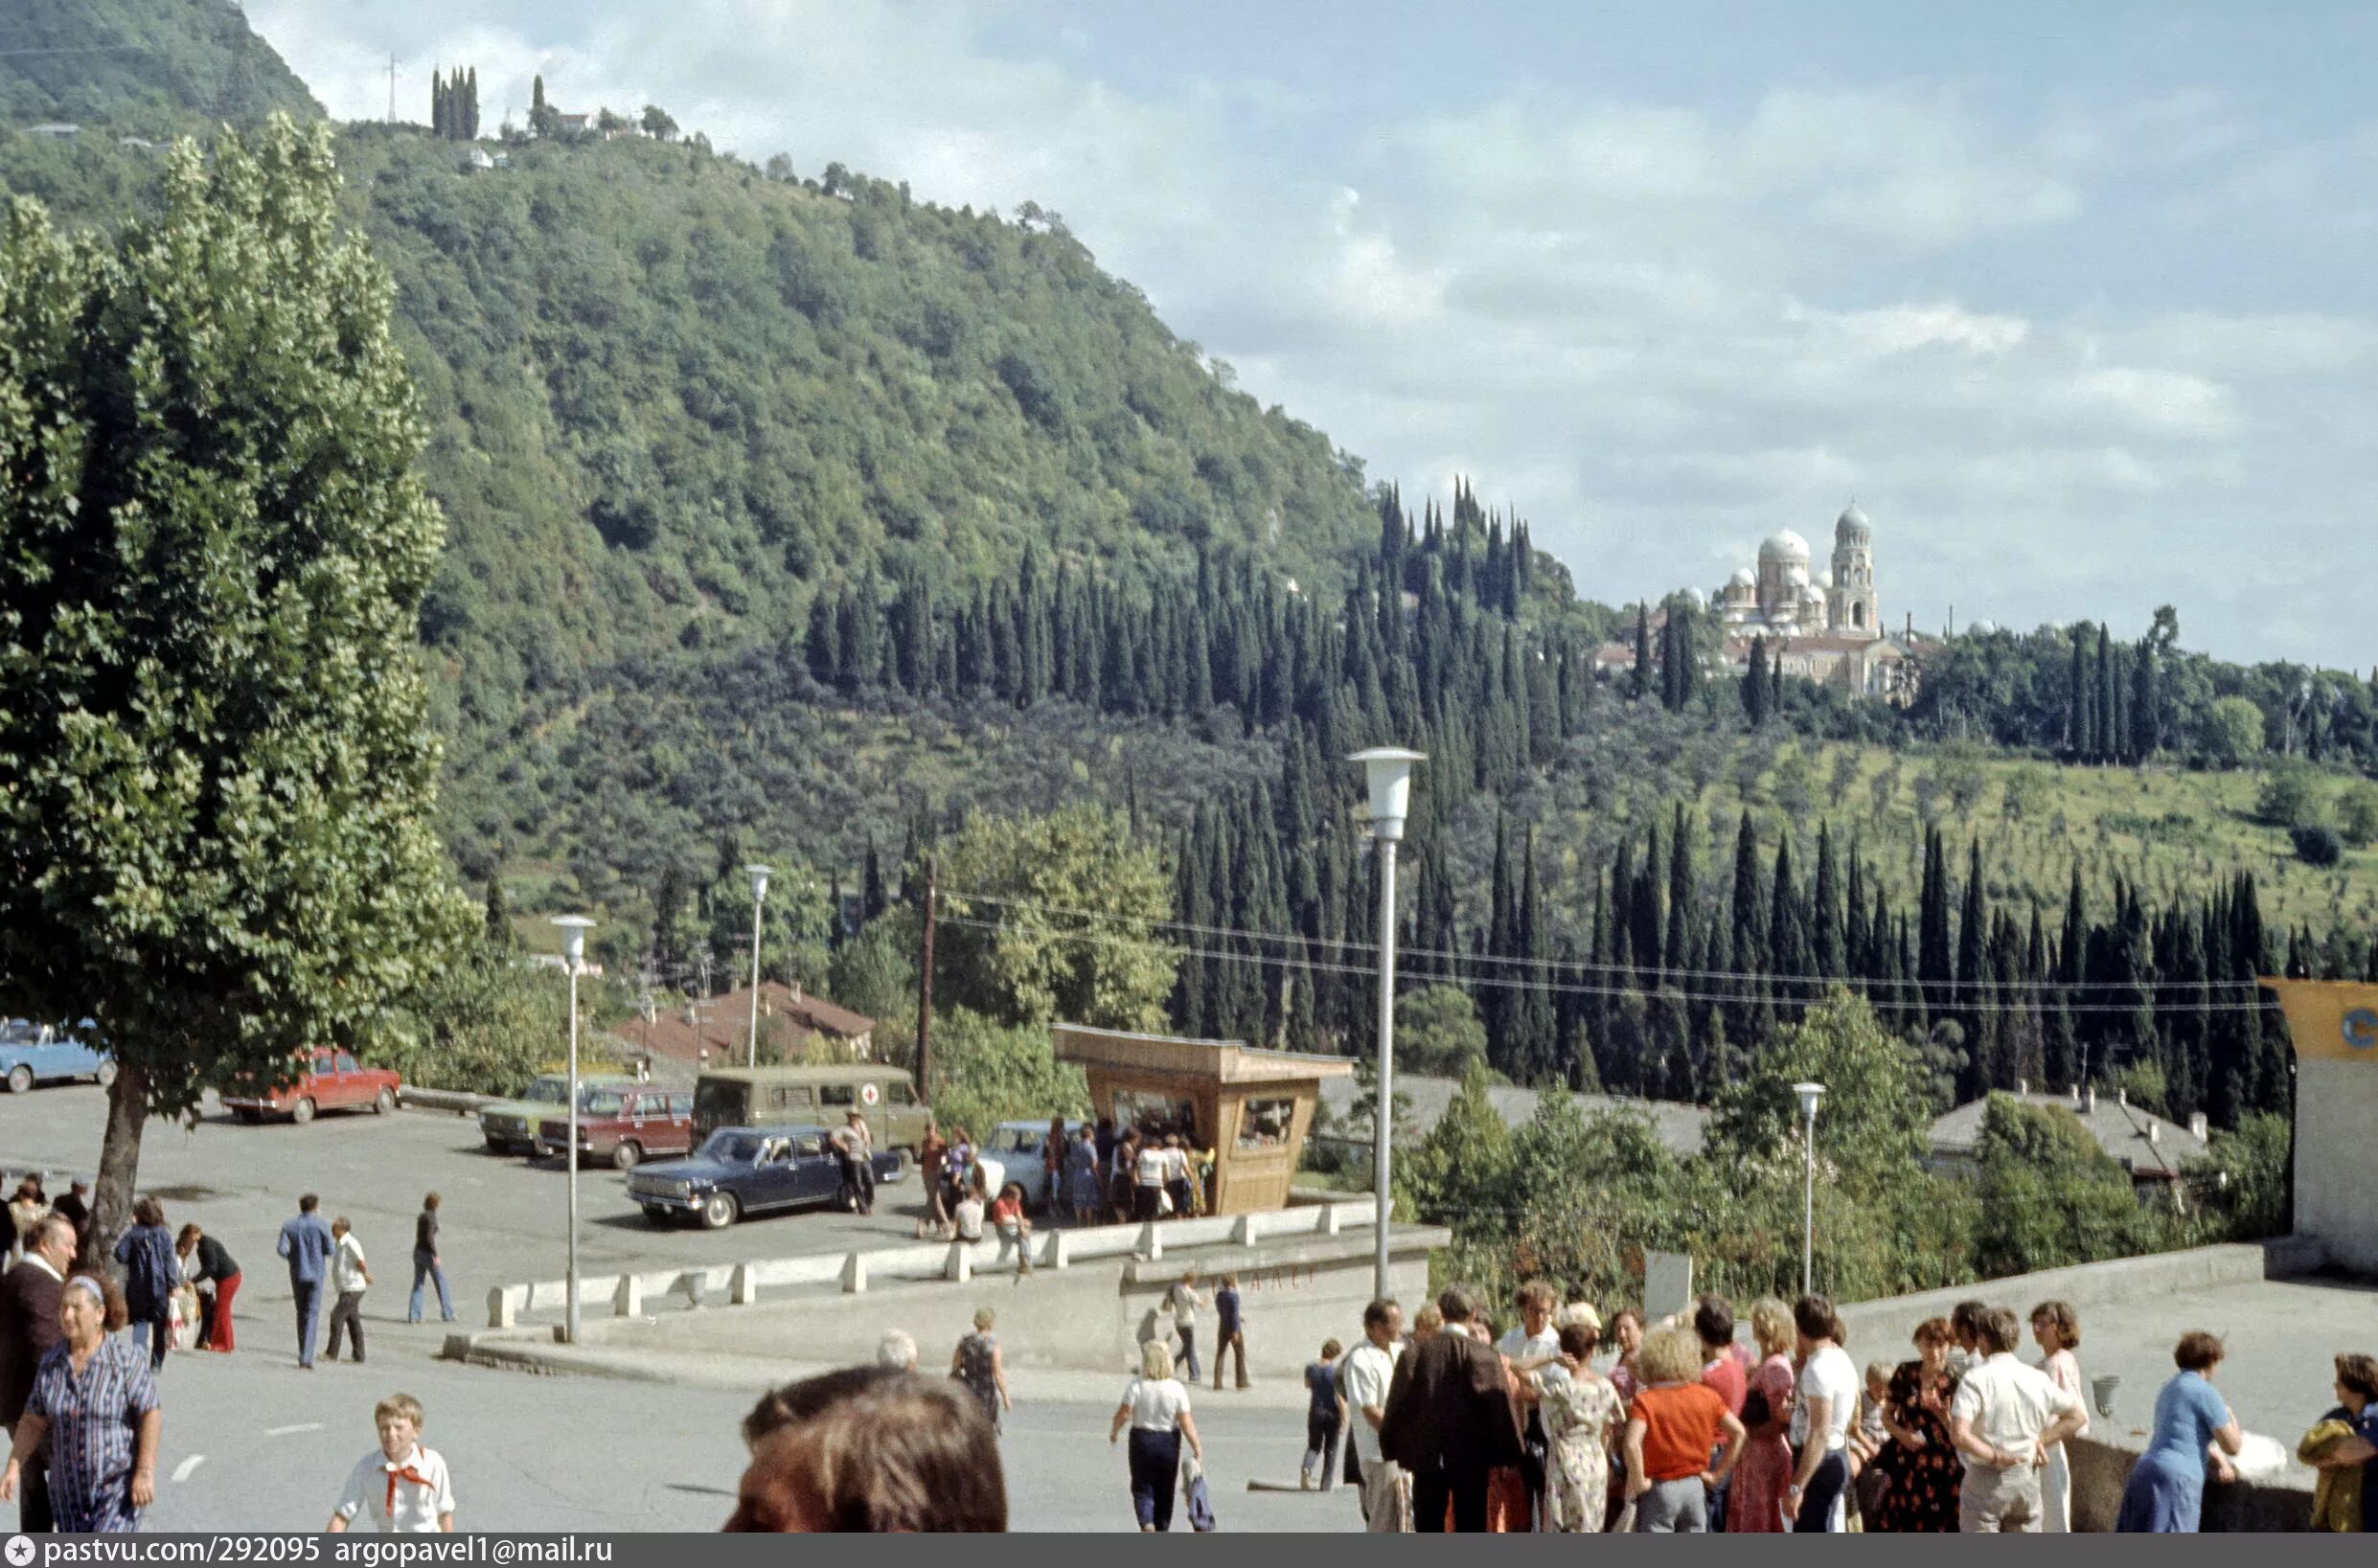
[[[166,1243],[166,1257],[174,1245]],[[50,1442],[50,1513],[62,1535],[121,1535],[157,1501],[157,1383],[124,1328],[124,1295],[95,1273],[67,1278],[57,1297],[64,1340],[43,1354],[17,1421],[0,1501],[24,1480],[24,1459]]]

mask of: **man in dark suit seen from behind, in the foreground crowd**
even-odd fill
[[[1520,1463],[1520,1418],[1503,1357],[1472,1338],[1477,1297],[1451,1285],[1436,1309],[1446,1314],[1446,1330],[1396,1361],[1379,1454],[1413,1475],[1415,1530],[1441,1532],[1448,1499],[1455,1530],[1484,1530],[1486,1473]]]

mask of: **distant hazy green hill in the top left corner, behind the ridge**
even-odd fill
[[[321,116],[235,0],[10,0],[0,126],[78,124],[162,138],[273,109]]]

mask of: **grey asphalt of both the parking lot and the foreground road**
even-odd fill
[[[0,1095],[0,1166],[88,1174],[105,1095],[88,1086]],[[628,1383],[523,1376],[438,1361],[445,1328],[407,1326],[411,1226],[421,1195],[445,1200],[445,1266],[461,1326],[485,1323],[495,1283],[559,1278],[564,1178],[556,1164],[487,1155],[466,1117],[395,1112],[245,1126],[150,1124],[140,1190],[174,1226],[197,1221],[240,1259],[245,1281],[231,1357],[176,1352],[159,1376],[164,1456],[152,1530],[314,1530],[373,1444],[371,1406],[404,1390],[428,1409],[426,1440],[454,1466],[464,1530],[716,1530],[742,1475],[737,1423],[761,1387],[730,1378]],[[354,1221],[378,1283],[364,1297],[369,1364],[295,1366],[290,1288],[273,1235],[300,1193]],[[580,1266],[590,1273],[839,1252],[906,1240],[916,1195],[887,1188],[870,1219],[792,1214],[728,1231],[654,1231],[611,1171],[580,1176]],[[927,1371],[944,1347],[925,1347]],[[785,1366],[785,1376],[797,1368]],[[1099,1378],[1011,1378],[1001,1454],[1018,1530],[1130,1530],[1122,1452],[1108,1447],[1113,1395]],[[1196,1395],[1208,1485],[1222,1530],[1355,1530],[1355,1504],[1327,1494],[1248,1492],[1296,1482],[1303,1414],[1289,1390]],[[0,1525],[14,1504],[0,1504]],[[1177,1520],[1187,1528],[1187,1520]]]

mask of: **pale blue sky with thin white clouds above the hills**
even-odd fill
[[[2378,665],[2378,10],[247,0],[342,119],[666,107],[1039,202],[1610,603],[1874,520],[1888,622]]]

